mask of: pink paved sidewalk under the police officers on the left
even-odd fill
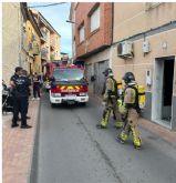
[[[34,135],[37,131],[39,101],[30,101],[28,124],[32,129],[11,129],[12,114],[2,115],[2,182],[28,183]],[[19,122],[20,124],[20,122]]]

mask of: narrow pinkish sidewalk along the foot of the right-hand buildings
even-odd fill
[[[102,99],[97,95],[90,93],[90,96],[94,98],[99,104],[102,104]],[[170,131],[159,124],[156,124],[152,121],[141,118],[138,121],[138,125],[147,131],[158,135],[161,139],[176,144],[176,131]]]

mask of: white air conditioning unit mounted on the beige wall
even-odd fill
[[[121,58],[133,58],[133,43],[131,41],[120,42],[117,44],[117,55]]]

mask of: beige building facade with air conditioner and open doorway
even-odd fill
[[[125,12],[125,13],[124,13]],[[146,88],[143,115],[176,129],[176,3],[114,3],[111,64]]]

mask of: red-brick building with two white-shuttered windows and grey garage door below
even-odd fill
[[[112,3],[72,3],[70,20],[73,23],[73,57],[86,68],[90,91],[100,94],[108,67],[112,42]],[[96,78],[91,82],[91,78]]]

